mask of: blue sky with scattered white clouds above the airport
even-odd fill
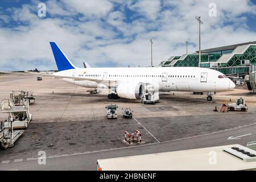
[[[201,49],[256,40],[256,0],[0,0],[0,70],[56,69],[49,42],[77,67],[148,66],[151,38],[159,65],[198,49],[195,16]]]

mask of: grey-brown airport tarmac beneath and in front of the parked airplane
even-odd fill
[[[0,75],[0,90],[0,100],[9,98],[11,90],[31,90],[37,98],[27,130],[14,147],[0,150],[0,170],[95,170],[97,159],[256,140],[256,97],[243,88],[217,93],[213,101],[191,92],[162,93],[156,105],[109,100],[105,92],[89,94],[89,89],[51,77]],[[247,112],[220,112],[224,101],[238,97],[246,99]],[[106,118],[107,104],[118,105],[117,119]],[[132,119],[122,117],[125,107],[134,110]],[[0,114],[1,120],[6,117]],[[142,143],[125,142],[125,131],[136,130]],[[40,151],[46,164],[39,164]]]

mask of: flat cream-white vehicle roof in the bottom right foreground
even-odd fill
[[[229,146],[197,148],[192,150],[163,152],[156,154],[127,156],[122,158],[100,159],[102,170],[120,171],[177,171],[177,170],[246,170],[256,169],[256,162],[242,159],[223,151]],[[214,155],[216,160],[214,160]],[[216,163],[215,163],[216,162]]]

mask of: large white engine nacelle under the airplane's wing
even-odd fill
[[[135,100],[144,97],[144,94],[146,93],[146,86],[140,82],[137,84],[127,82],[119,84],[116,91],[119,97]]]

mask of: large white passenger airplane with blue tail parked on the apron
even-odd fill
[[[51,76],[85,88],[111,89],[114,93],[108,98],[142,99],[153,88],[155,92],[207,92],[207,100],[211,101],[216,92],[236,86],[223,73],[208,68],[91,68],[87,63],[86,68],[77,68],[55,42],[50,42],[50,46],[58,69]]]

